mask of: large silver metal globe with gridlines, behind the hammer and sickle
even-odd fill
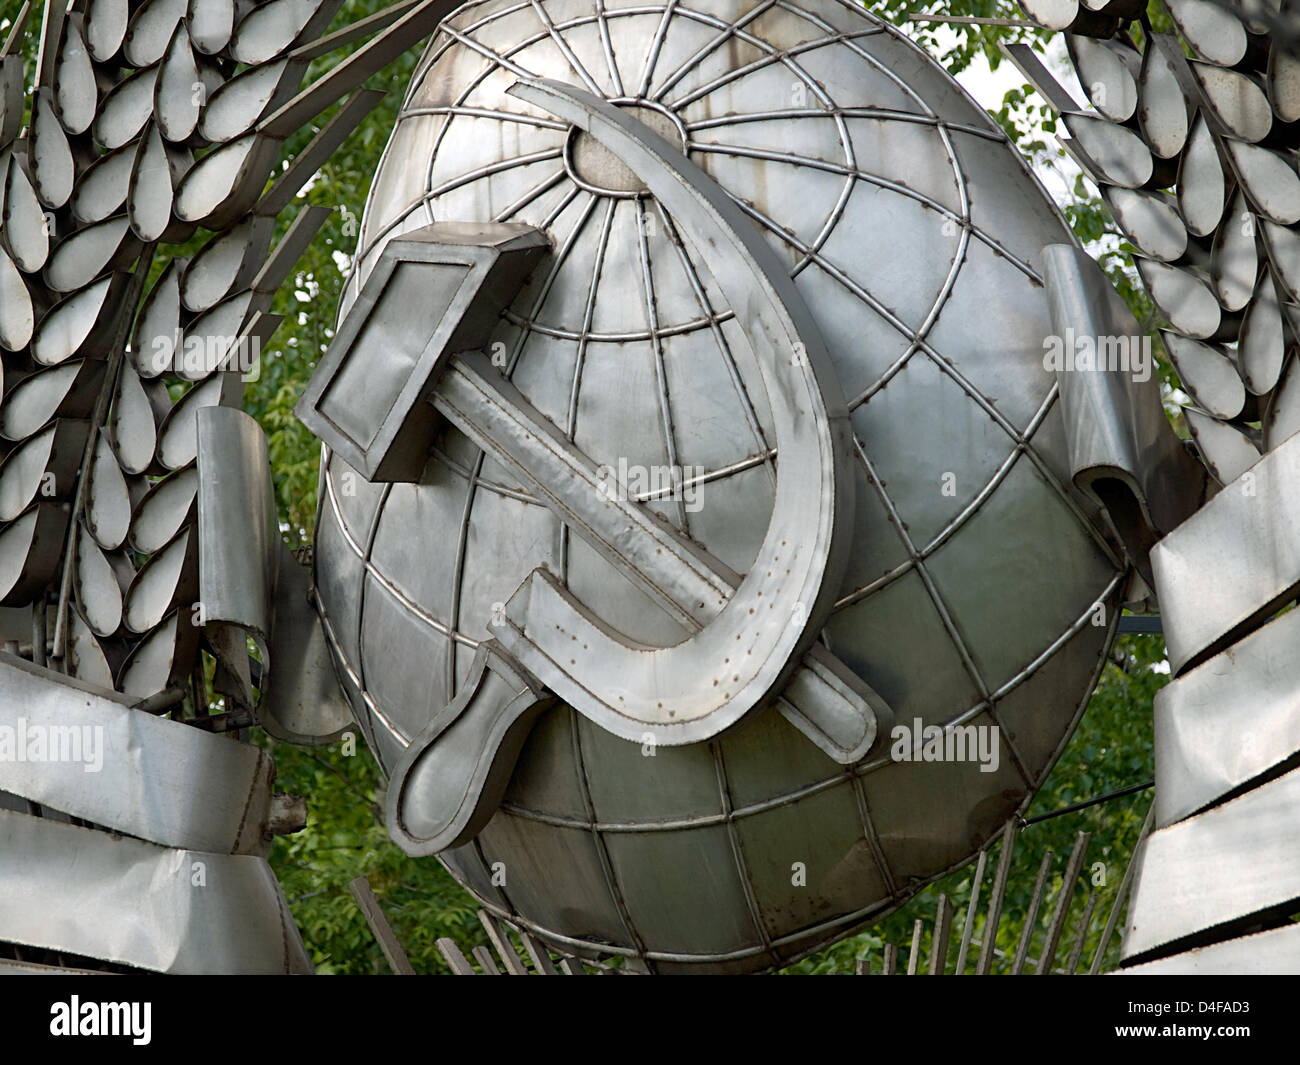
[[[1072,237],[996,124],[857,5],[486,0],[443,23],[376,173],[341,317],[403,234],[543,231],[491,362],[632,502],[737,575],[779,516],[751,308],[728,303],[644,173],[508,92],[536,78],[684,152],[780,259],[853,433],[852,544],[820,646],[907,735],[983,726],[996,744],[949,761],[919,735],[881,737],[841,765],[768,707],[666,745],[559,702],[491,821],[441,858],[562,951],[664,973],[780,966],[1023,809],[1104,661],[1122,551],[1071,486],[1043,363],[1041,250]],[[385,771],[464,694],[494,611],[538,567],[633,645],[689,635],[455,428],[413,482],[328,455],[317,605]]]

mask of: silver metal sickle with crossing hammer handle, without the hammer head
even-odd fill
[[[632,645],[552,573],[534,570],[494,611],[493,638],[480,645],[460,693],[394,769],[387,824],[411,854],[478,832],[533,722],[556,698],[618,736],[656,745],[707,740],[772,705],[841,763],[862,758],[890,718],[815,642],[852,546],[852,436],[826,343],[788,270],[727,192],[644,124],[562,82],[524,79],[508,91],[621,159],[707,263],[746,325],[767,390],[776,492],[763,544],[741,577],[649,510],[602,490],[595,463],[482,351],[438,352],[424,393],[434,408],[693,635],[667,648]],[[328,425],[304,420],[332,442]]]

